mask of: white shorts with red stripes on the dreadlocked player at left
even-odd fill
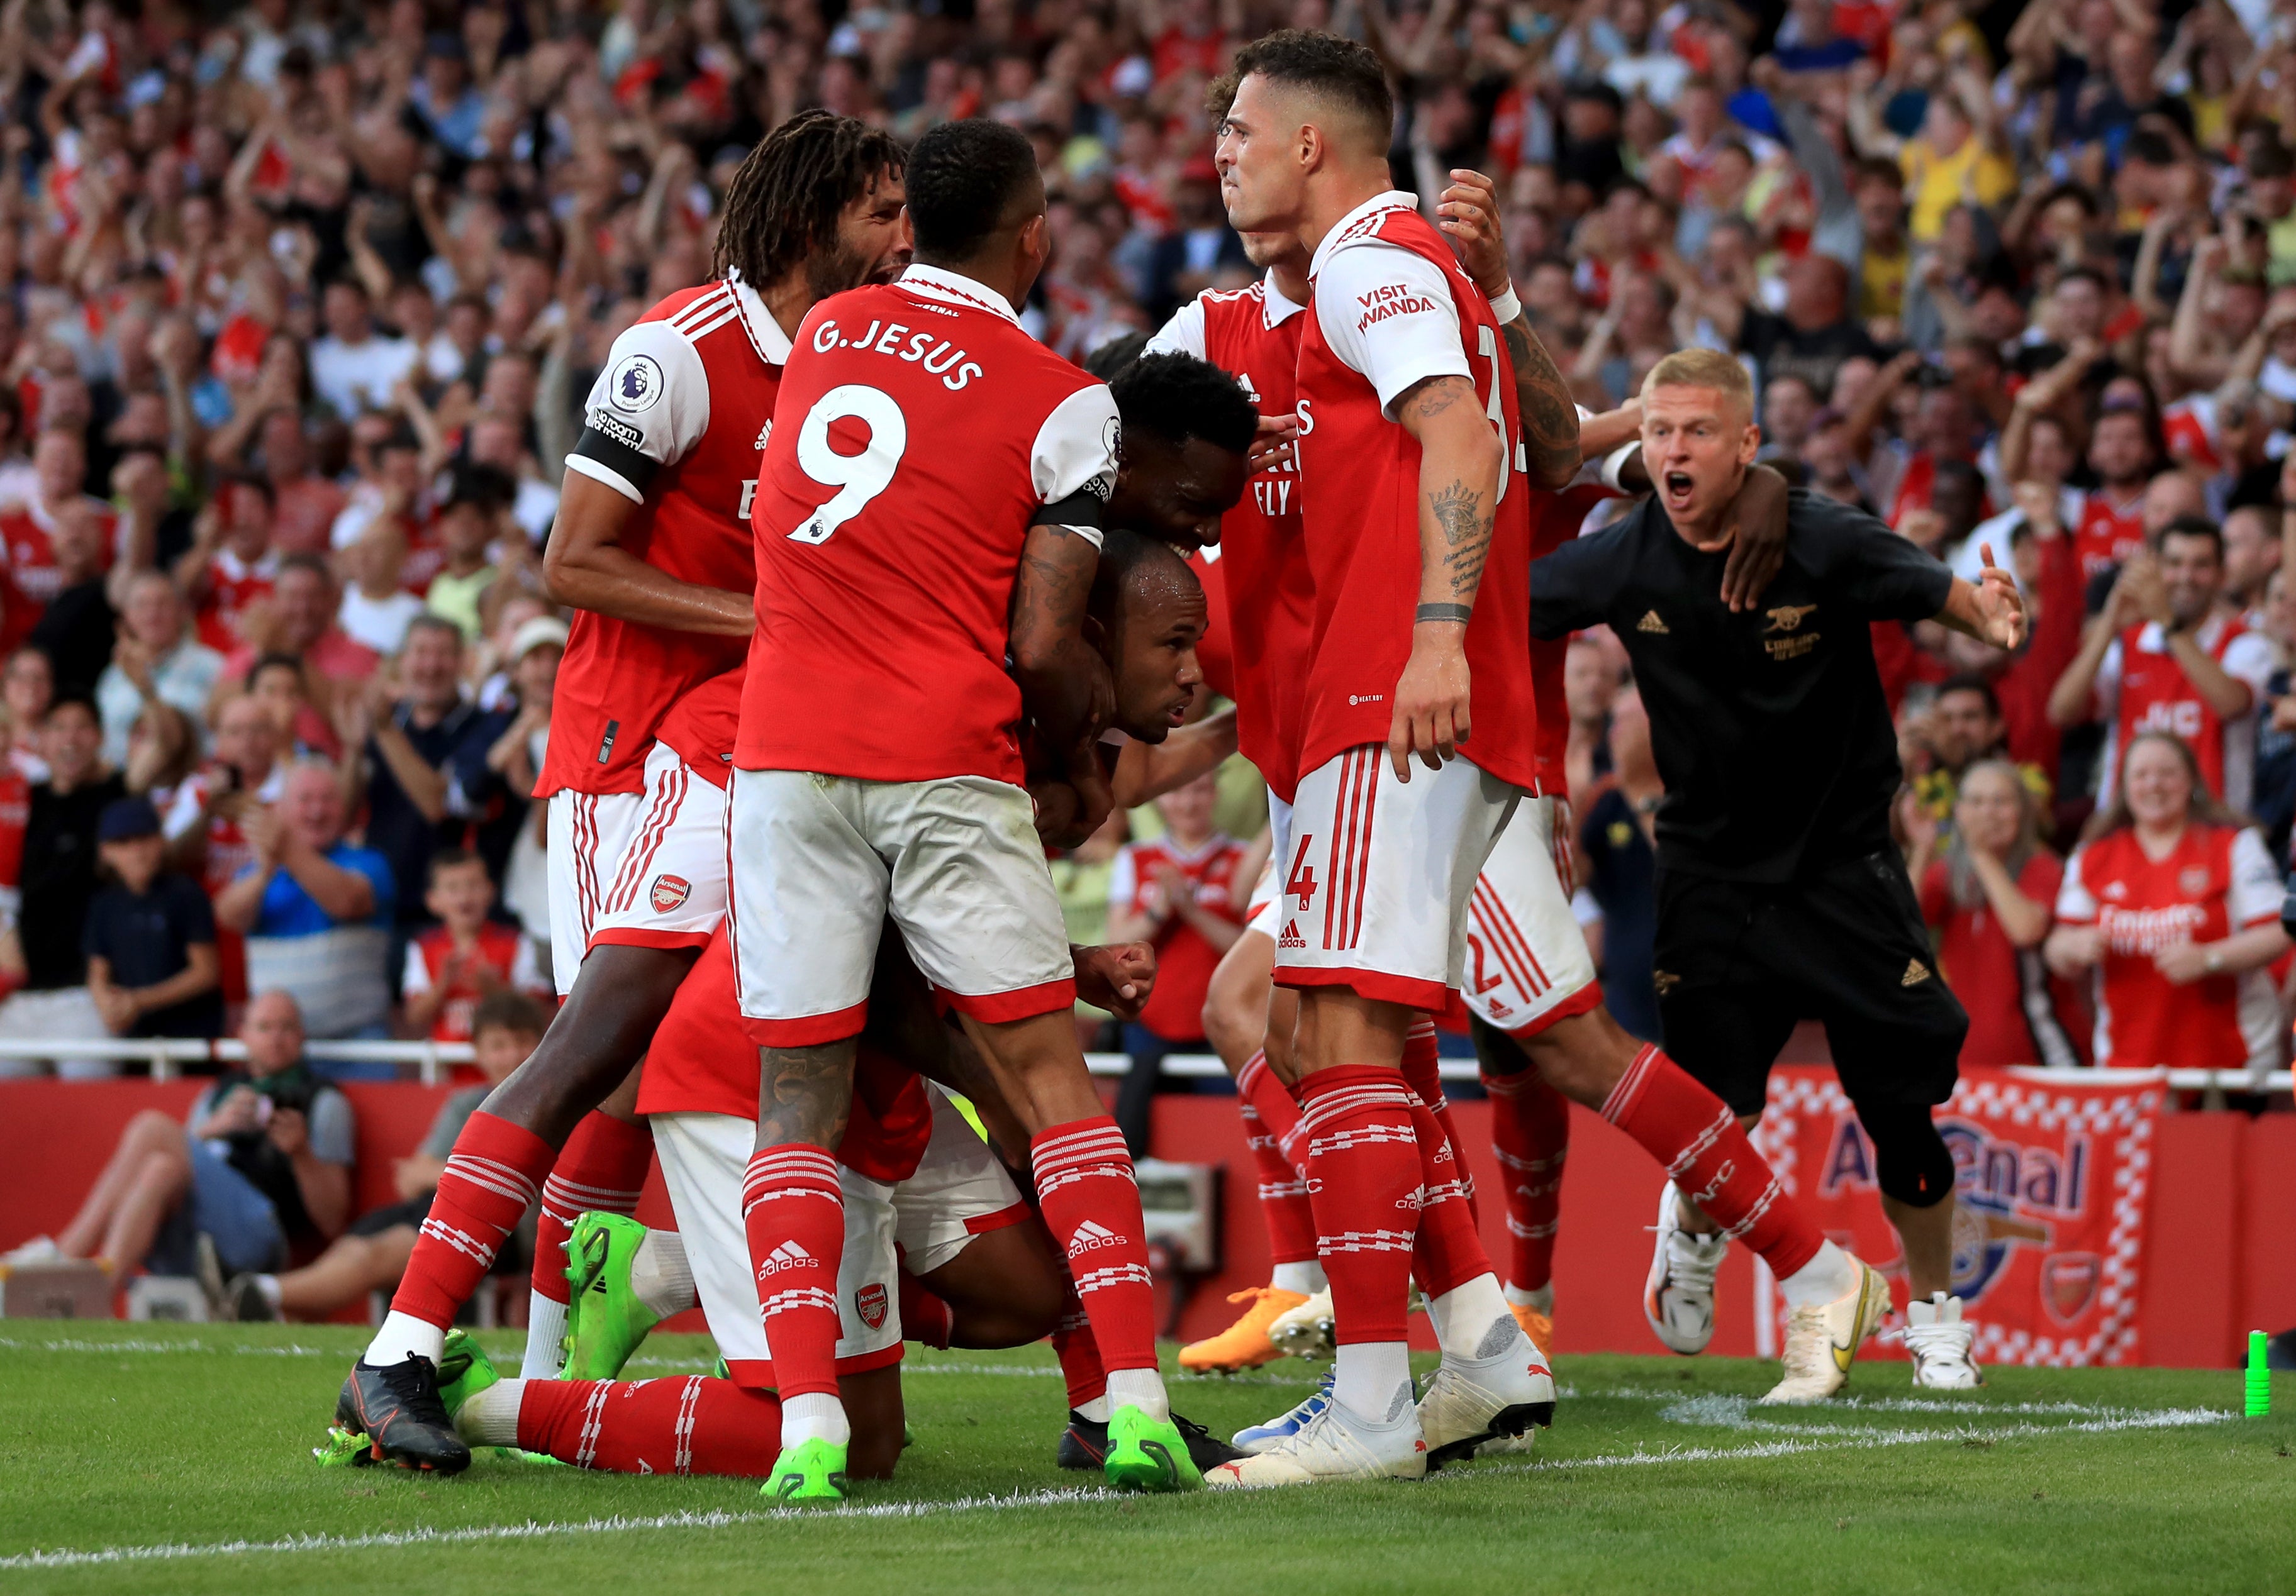
[[[657,742],[590,946],[707,948],[726,921],[726,790]]]

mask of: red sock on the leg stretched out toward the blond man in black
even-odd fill
[[[1603,1100],[1603,1118],[1667,1167],[1729,1240],[1743,1240],[1779,1279],[1818,1256],[1825,1233],[1786,1196],[1738,1116],[1655,1047],[1635,1054]]]

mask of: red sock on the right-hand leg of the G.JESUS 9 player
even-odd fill
[[[1031,1137],[1035,1201],[1068,1258],[1077,1300],[1107,1369],[1155,1369],[1155,1281],[1141,1187],[1125,1137],[1107,1114]]]

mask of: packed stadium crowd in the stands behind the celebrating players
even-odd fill
[[[0,1036],[220,1036],[282,990],[315,1038],[466,1040],[484,999],[546,999],[560,462],[613,338],[709,276],[742,154],[806,106],[1024,129],[1054,237],[1024,324],[1084,358],[1251,280],[1201,103],[1283,23],[1387,60],[1398,186],[1497,179],[1589,411],[1736,351],[1768,462],[2016,570],[2014,657],[1876,629],[1965,1056],[2280,1061],[2296,28],[2268,0],[9,0]],[[1655,1036],[1662,792],[1623,661],[1570,652],[1580,909]],[[1072,925],[1159,946],[1104,1036],[1143,1082],[1203,1045],[1254,795],[1205,781],[1058,866]]]

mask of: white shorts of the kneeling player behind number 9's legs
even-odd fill
[[[930,1275],[987,1231],[1019,1224],[1029,1203],[1003,1164],[948,1102],[932,1093],[932,1141],[916,1173],[895,1187],[838,1164],[845,1190],[845,1258],[838,1268],[838,1373],[900,1359],[900,1268]],[[677,1210],[677,1233],[693,1291],[739,1385],[774,1382],[774,1355],[758,1318],[758,1281],[742,1229],[742,1173],[758,1121],[730,1114],[654,1114],[661,1183]]]

